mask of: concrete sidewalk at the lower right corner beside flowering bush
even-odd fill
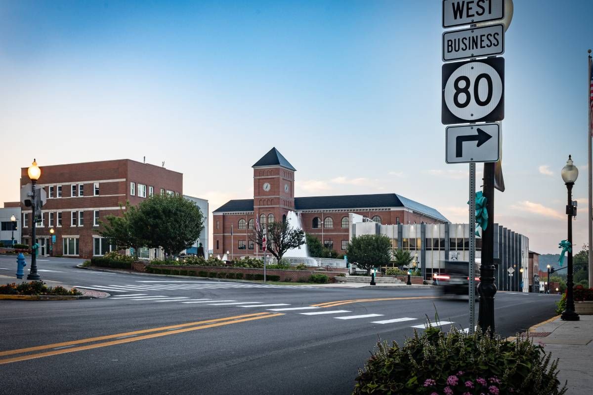
[[[533,341],[559,358],[558,378],[568,380],[569,395],[593,391],[593,316],[582,315],[579,321],[563,321],[560,316],[530,328]],[[541,337],[540,337],[541,336]]]

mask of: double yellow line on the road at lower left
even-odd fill
[[[134,332],[123,332],[116,333],[114,335],[97,336],[95,338],[79,339],[70,342],[61,342],[46,344],[42,346],[19,348],[8,351],[0,351],[0,357],[6,357],[8,355],[27,354],[35,351],[42,351],[52,349],[51,351],[38,352],[36,354],[21,355],[19,357],[3,358],[0,359],[0,365],[9,364],[11,362],[27,361],[28,359],[50,357],[51,355],[66,354],[67,352],[83,351],[93,348],[100,348],[106,346],[113,346],[122,343],[137,342],[145,339],[158,338],[160,336],[174,335],[175,333],[190,332],[192,330],[206,329],[216,326],[231,325],[240,322],[247,322],[253,320],[260,320],[265,318],[282,316],[282,313],[255,313],[255,314],[243,314],[241,316],[232,316],[225,318],[218,318],[212,320],[188,322],[180,325],[161,326],[152,329],[135,330]],[[156,332],[156,333],[151,333]],[[148,335],[142,335],[142,333],[149,333]],[[142,336],[138,336],[142,335]],[[129,337],[128,337],[129,336]],[[109,341],[109,339],[115,339]],[[105,341],[108,340],[108,341]],[[91,343],[83,346],[72,347],[77,344]],[[64,347],[64,348],[63,348]]]

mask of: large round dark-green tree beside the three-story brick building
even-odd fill
[[[136,213],[132,233],[145,240],[146,247],[164,249],[169,258],[192,246],[204,228],[202,211],[183,196],[152,195]]]

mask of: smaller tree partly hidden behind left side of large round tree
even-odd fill
[[[101,230],[98,232],[101,237],[109,240],[110,244],[116,245],[118,248],[133,248],[134,257],[138,259],[138,249],[146,245],[146,240],[142,237],[136,236],[132,230],[132,225],[138,217],[138,208],[126,203],[127,209],[124,210],[122,205],[119,205],[119,216],[110,214],[105,217],[105,221],[100,221]]]

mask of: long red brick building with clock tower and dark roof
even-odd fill
[[[253,198],[228,201],[212,213],[215,255],[227,251],[232,256],[261,255],[249,237],[256,219],[260,223],[279,221],[289,211],[301,217],[305,233],[317,236],[327,248],[338,253],[344,253],[349,242],[349,213],[382,224],[448,223],[434,208],[397,194],[295,198],[297,170],[276,148],[252,167]]]

